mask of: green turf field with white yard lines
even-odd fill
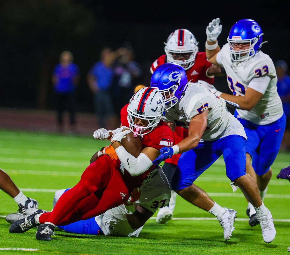
[[[54,192],[73,187],[88,166],[91,156],[108,142],[93,136],[65,136],[45,133],[0,131],[0,167],[39,208],[51,210]],[[290,182],[276,179],[280,169],[288,166],[290,155],[279,153],[274,162],[265,205],[271,210],[277,235],[263,242],[260,226],[251,228],[246,221],[247,202],[240,190],[235,193],[219,159],[195,182],[221,206],[238,211],[235,231],[225,241],[218,220],[180,197],[175,218],[166,225],[155,219],[145,224],[139,238],[86,236],[56,231],[50,242],[35,239],[36,228],[23,234],[10,234],[9,224],[0,217],[1,254],[287,254],[290,246]],[[0,190],[0,215],[15,212],[14,200]],[[211,219],[185,219],[210,217]],[[37,251],[3,250],[3,248],[38,249]],[[1,250],[2,249],[2,250]]]

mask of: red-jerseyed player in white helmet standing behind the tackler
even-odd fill
[[[177,29],[172,32],[166,41],[164,47],[166,55],[160,56],[151,65],[150,71],[153,73],[156,68],[165,63],[179,64],[186,70],[187,79],[192,82],[204,80],[210,84],[214,82],[214,76],[223,75],[223,68],[211,64],[206,59],[205,52],[200,52],[198,42],[195,36],[187,29]],[[180,142],[188,136],[187,129],[176,127],[174,131],[175,143]],[[173,155],[172,158],[165,160],[162,166],[166,175],[173,174],[177,166],[180,154]],[[156,221],[158,223],[166,223],[173,217],[173,209],[175,207],[176,193],[172,191],[170,205],[159,209]]]

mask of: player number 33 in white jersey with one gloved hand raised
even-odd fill
[[[272,176],[274,162],[283,138],[286,117],[277,93],[277,75],[272,59],[261,51],[262,28],[252,19],[236,22],[222,49],[217,38],[222,31],[220,19],[206,28],[206,57],[209,62],[225,68],[227,82],[233,95],[208,88],[215,95],[238,103],[235,117],[242,123],[248,140],[246,171],[257,182],[262,200]],[[252,160],[252,164],[251,164]],[[249,202],[249,201],[248,201]],[[255,209],[249,202],[247,215],[250,226],[259,223]]]

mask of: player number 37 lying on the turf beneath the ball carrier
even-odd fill
[[[65,191],[61,189],[55,192],[53,207]],[[119,205],[94,218],[57,227],[75,234],[137,237],[144,223],[158,208],[168,205],[171,196],[169,182],[161,168],[158,168],[151,178],[143,182],[140,191],[138,192],[137,189],[132,191],[131,199],[127,201],[131,203],[129,205]],[[132,213],[132,206],[136,210],[134,213]],[[6,220],[13,223],[24,217],[22,214],[9,214]]]

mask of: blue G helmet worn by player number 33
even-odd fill
[[[262,28],[253,19],[241,19],[236,22],[232,26],[228,37],[232,62],[242,62],[253,57],[265,43],[262,43],[263,35]],[[235,43],[249,43],[249,48],[234,50],[233,45]]]

